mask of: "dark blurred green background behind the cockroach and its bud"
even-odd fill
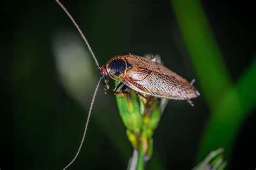
[[[191,169],[219,147],[227,168],[255,169],[254,5],[61,2],[100,65],[129,52],[153,53],[187,80],[196,79],[201,96],[194,107],[169,101],[146,169]],[[80,143],[99,70],[55,1],[5,1],[1,12],[0,169],[62,169]],[[104,95],[102,83],[70,169],[125,169],[132,150],[114,95]]]

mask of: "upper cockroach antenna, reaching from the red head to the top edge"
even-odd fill
[[[57,3],[59,4],[59,6],[66,12],[66,15],[69,16],[69,18],[71,19],[72,23],[76,26],[78,32],[81,34],[83,40],[85,41],[85,44],[87,45],[87,47],[88,47],[90,53],[92,54],[92,57],[93,57],[93,59],[95,60],[96,65],[97,65],[98,68],[100,69],[99,63],[98,63],[98,61],[97,61],[97,59],[96,59],[96,56],[94,55],[94,53],[93,53],[93,51],[92,51],[92,48],[91,48],[89,42],[87,41],[87,39],[85,38],[83,32],[80,30],[78,24],[75,22],[75,19],[73,19],[73,17],[70,15],[69,11],[66,10],[65,6],[63,6],[62,3],[60,3],[58,0],[56,0],[56,2],[57,2]]]

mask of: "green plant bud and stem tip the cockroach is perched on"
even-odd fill
[[[116,81],[116,86],[117,86]],[[157,97],[140,97],[134,90],[128,94],[116,95],[119,114],[126,126],[126,134],[134,150],[139,152],[137,169],[144,164],[153,153],[153,133],[161,117],[161,99]],[[131,158],[132,159],[132,158]]]

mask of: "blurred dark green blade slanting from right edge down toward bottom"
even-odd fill
[[[199,148],[198,158],[209,148],[224,147],[230,158],[237,131],[256,101],[256,58],[234,88],[228,90],[213,110]]]

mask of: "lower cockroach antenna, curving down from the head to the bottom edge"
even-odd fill
[[[99,88],[99,83],[100,83],[100,81],[102,81],[102,79],[103,79],[103,76],[100,77],[99,82],[98,82],[98,84],[97,84],[97,86],[96,86],[96,88],[95,88],[94,94],[93,94],[93,96],[92,96],[92,101],[91,101],[91,105],[90,105],[90,109],[89,109],[87,121],[86,121],[85,128],[84,128],[84,134],[83,134],[81,143],[80,143],[80,145],[79,145],[79,148],[78,148],[78,150],[77,150],[77,153],[76,153],[75,157],[71,160],[71,162],[70,162],[67,166],[65,166],[65,168],[63,168],[63,170],[65,170],[65,169],[68,168],[71,164],[73,164],[73,162],[77,159],[77,156],[78,156],[78,154],[79,154],[79,152],[80,152],[80,150],[81,150],[81,148],[82,148],[82,145],[83,145],[83,143],[84,143],[84,138],[85,138],[85,135],[86,135],[86,131],[87,131],[87,127],[88,127],[88,124],[89,124],[89,121],[90,121],[90,116],[91,116],[91,112],[92,112],[92,106],[93,106],[93,103],[94,103],[94,101],[95,101],[95,97],[96,97],[96,94],[97,94],[97,91],[98,91],[98,88]]]

